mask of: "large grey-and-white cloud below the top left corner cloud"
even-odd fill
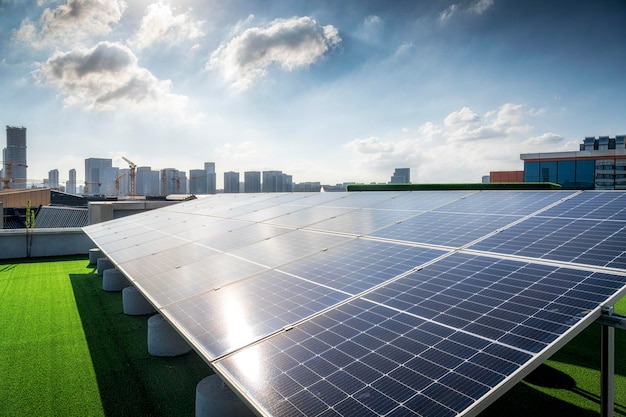
[[[159,81],[137,64],[137,57],[119,43],[100,42],[91,49],[56,52],[35,73],[42,82],[58,87],[68,104],[84,103],[97,109],[131,106],[182,105],[183,96],[171,94],[171,83]]]

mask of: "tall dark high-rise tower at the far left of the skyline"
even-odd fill
[[[26,188],[26,128],[7,126],[7,146],[2,150],[3,186]]]

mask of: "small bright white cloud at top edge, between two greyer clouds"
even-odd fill
[[[131,44],[139,49],[159,43],[179,44],[201,37],[204,34],[201,26],[202,22],[193,20],[189,13],[175,15],[169,4],[154,3],[148,6],[148,13]]]

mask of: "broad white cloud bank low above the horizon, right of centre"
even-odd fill
[[[478,182],[492,170],[523,169],[519,154],[528,152],[529,144],[562,139],[554,133],[528,138],[533,127],[525,119],[532,113],[512,103],[482,115],[463,107],[443,123],[429,121],[417,129],[404,129],[401,139],[356,139],[344,148],[355,170],[370,172],[370,178],[386,178],[393,168],[407,166],[413,182]]]

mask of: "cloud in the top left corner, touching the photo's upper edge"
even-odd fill
[[[109,34],[125,9],[123,0],[66,0],[54,9],[46,8],[37,23],[22,21],[13,37],[33,46],[76,43]]]

